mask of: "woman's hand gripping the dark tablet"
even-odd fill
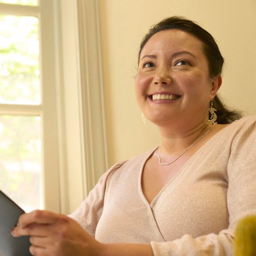
[[[92,255],[103,250],[75,220],[66,215],[36,210],[20,216],[12,236],[30,236],[29,251],[35,256]]]

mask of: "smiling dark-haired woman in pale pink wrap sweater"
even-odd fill
[[[69,217],[21,215],[13,236],[30,235],[33,255],[233,255],[236,222],[255,213],[255,118],[232,123],[216,96],[222,65],[192,21],[155,25],[135,91],[162,145],[110,168]]]

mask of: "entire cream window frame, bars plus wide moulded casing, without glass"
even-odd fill
[[[98,0],[0,4],[0,13],[39,18],[42,104],[0,104],[0,114],[42,117],[44,208],[69,214],[109,167]]]

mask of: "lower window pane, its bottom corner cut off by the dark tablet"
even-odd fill
[[[42,209],[40,116],[0,115],[0,189],[29,212]]]

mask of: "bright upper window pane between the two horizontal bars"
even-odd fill
[[[40,104],[38,19],[0,15],[0,103]]]

